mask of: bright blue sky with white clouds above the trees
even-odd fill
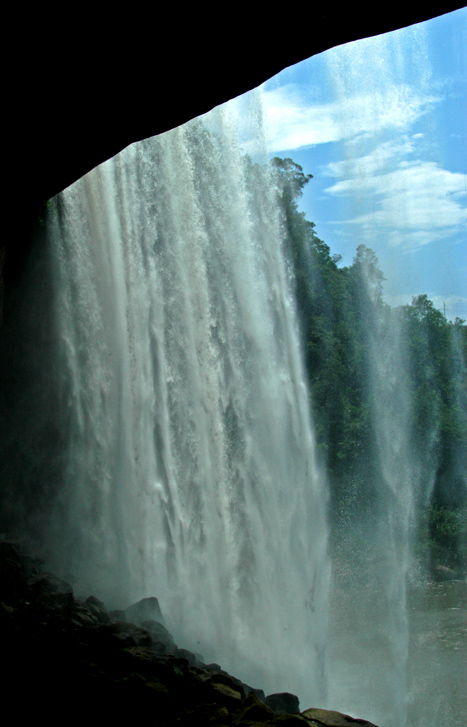
[[[426,293],[467,320],[467,8],[332,48],[259,89],[270,155],[313,174],[300,207],[392,305]]]

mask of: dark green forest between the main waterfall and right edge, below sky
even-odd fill
[[[427,295],[414,297],[410,305],[389,306],[374,251],[359,245],[352,265],[340,265],[340,256],[299,211],[312,175],[291,159],[276,157],[271,164],[319,457],[329,478],[331,522],[377,513],[385,473],[376,456],[381,442],[375,419],[381,413],[375,399],[386,396],[391,402],[386,410],[393,409],[388,429],[401,437],[399,450],[411,461],[413,552],[428,568],[462,570],[467,562],[465,321],[447,320]]]

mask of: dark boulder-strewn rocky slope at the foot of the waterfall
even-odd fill
[[[179,648],[156,598],[108,611],[94,596],[76,598],[68,583],[6,540],[0,628],[3,704],[18,724],[375,727],[339,712],[300,712],[292,694],[266,696]]]

